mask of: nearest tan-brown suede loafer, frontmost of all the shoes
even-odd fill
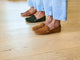
[[[61,32],[61,25],[57,28],[54,28],[52,30],[49,29],[48,26],[44,26],[38,30],[35,30],[34,31],[36,34],[40,34],[40,35],[43,35],[43,34],[51,34],[51,33],[58,33],[58,32]]]

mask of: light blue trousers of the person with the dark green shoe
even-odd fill
[[[28,0],[28,5],[37,9],[37,11],[44,11],[43,0]]]

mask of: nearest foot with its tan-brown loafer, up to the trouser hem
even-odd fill
[[[53,19],[49,25],[45,25],[34,31],[36,34],[51,34],[61,32],[61,25],[59,20]]]

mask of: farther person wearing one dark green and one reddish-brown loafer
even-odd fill
[[[45,21],[46,16],[44,12],[43,0],[28,0],[28,5],[31,7],[28,11],[21,13],[25,18],[26,22],[42,22]]]

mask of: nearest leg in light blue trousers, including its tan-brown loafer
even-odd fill
[[[51,9],[50,11],[52,11],[52,16],[53,16],[52,22],[48,25],[45,25],[45,26],[35,30],[35,33],[37,33],[37,34],[60,32],[61,31],[60,21],[66,20],[66,11],[67,11],[66,0],[65,1],[64,0],[60,0],[60,1],[51,0],[51,2],[52,2],[52,5],[51,5],[51,7],[49,5],[49,8]],[[45,10],[45,11],[49,12],[49,10]],[[47,12],[45,12],[45,13],[47,15]],[[50,14],[50,13],[48,13],[48,14]]]

